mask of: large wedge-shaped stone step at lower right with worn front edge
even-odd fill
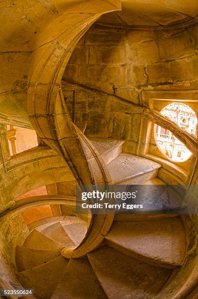
[[[108,246],[149,264],[175,268],[183,264],[186,240],[179,217],[114,222]]]

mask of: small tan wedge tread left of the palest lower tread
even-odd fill
[[[66,231],[62,227],[60,222],[56,222],[44,230],[41,231],[41,234],[46,235],[57,243],[64,244],[67,247],[73,247],[75,244],[69,235],[66,234]]]

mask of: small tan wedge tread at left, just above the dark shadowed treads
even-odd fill
[[[39,249],[39,250],[62,250],[63,244],[57,243],[48,238],[46,235],[34,230],[23,243],[24,247]]]

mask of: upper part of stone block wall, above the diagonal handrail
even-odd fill
[[[141,103],[142,89],[198,86],[198,27],[141,31],[93,25],[78,43],[64,79]]]

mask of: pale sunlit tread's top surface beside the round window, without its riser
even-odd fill
[[[124,181],[129,178],[158,170],[160,167],[161,165],[154,161],[122,153],[108,164],[108,171],[113,182],[123,182],[124,184]]]

